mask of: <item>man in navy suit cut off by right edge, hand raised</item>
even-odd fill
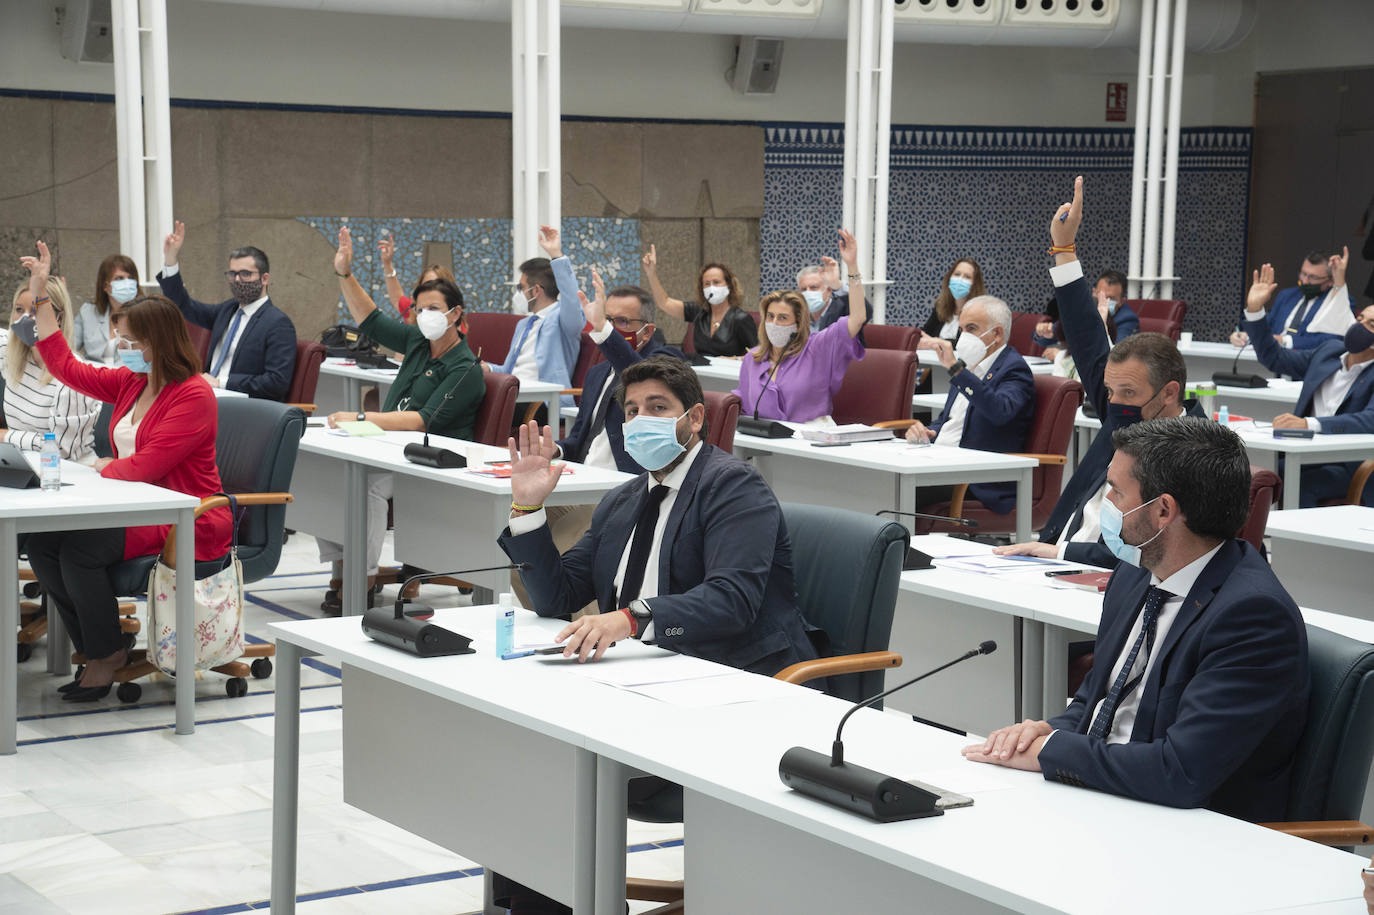
[[[1360,312],[1344,339],[1326,339],[1312,349],[1283,349],[1264,332],[1264,302],[1274,286],[1272,267],[1254,271],[1245,312],[1246,331],[1264,367],[1303,379],[1293,412],[1275,416],[1274,427],[1337,436],[1374,433],[1374,372],[1366,371],[1374,363],[1374,305]],[[1342,499],[1358,467],[1359,462],[1304,466],[1301,507]],[[1374,490],[1366,489],[1364,503],[1374,506]]]

